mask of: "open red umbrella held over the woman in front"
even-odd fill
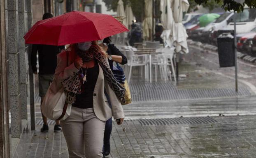
[[[72,11],[38,21],[24,36],[24,39],[26,44],[62,46],[101,40],[126,31],[129,30],[110,15]]]

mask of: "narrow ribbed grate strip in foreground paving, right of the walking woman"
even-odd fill
[[[181,117],[181,118],[162,118],[162,119],[138,119],[143,126],[148,125],[172,125],[172,124],[209,124],[217,123],[212,117]]]

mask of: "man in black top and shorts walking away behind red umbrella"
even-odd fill
[[[52,18],[51,13],[45,13],[43,15],[43,20],[47,18]],[[38,73],[39,79],[39,96],[41,97],[41,104],[44,96],[47,92],[50,83],[53,81],[53,76],[55,73],[57,65],[57,54],[64,49],[64,46],[51,46],[42,44],[33,44],[31,53],[31,67],[34,74]],[[39,72],[37,72],[37,52],[39,60]],[[49,127],[47,124],[47,118],[42,114],[44,125],[41,128],[41,132],[48,132]],[[56,121],[54,126],[55,132],[61,132],[60,121]]]

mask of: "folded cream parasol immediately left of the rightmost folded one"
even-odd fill
[[[164,41],[165,47],[171,47],[171,35],[172,35],[172,27],[173,27],[173,16],[172,16],[172,8],[170,0],[161,0],[160,2],[160,10],[161,14],[161,23],[163,25],[163,32],[161,34],[161,38]]]

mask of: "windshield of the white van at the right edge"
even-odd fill
[[[256,18],[256,9],[244,9],[243,12],[238,13],[236,17],[237,22],[250,22]]]

